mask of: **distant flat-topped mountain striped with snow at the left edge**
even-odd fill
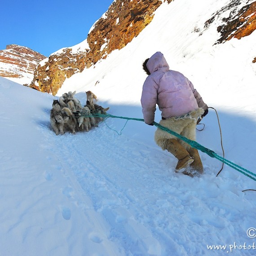
[[[30,74],[32,79],[36,66],[44,58],[44,55],[27,47],[9,44],[0,50],[0,76],[23,78]]]

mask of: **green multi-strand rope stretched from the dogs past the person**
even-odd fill
[[[82,112],[81,112],[80,114],[83,115]],[[124,124],[124,127],[126,126],[128,120],[136,120],[136,121],[142,121],[142,122],[144,122],[144,119],[123,117],[123,116],[115,116],[115,115],[110,115],[110,114],[98,114],[98,113],[97,113],[97,114],[94,114],[94,113],[93,113],[93,114],[90,115],[90,116],[86,115],[86,117],[107,117],[107,118],[111,117],[111,118],[126,119],[127,121],[126,121],[126,123]],[[106,122],[105,122],[105,124],[106,124]],[[218,160],[221,161],[222,163],[225,163],[226,165],[230,166],[231,168],[237,170],[238,172],[243,173],[245,176],[247,176],[247,177],[251,178],[252,180],[256,181],[256,178],[255,178],[255,177],[256,177],[256,174],[255,174],[255,173],[250,172],[250,171],[248,171],[247,169],[245,169],[245,168],[243,168],[243,167],[241,167],[241,166],[239,166],[239,165],[237,165],[237,164],[235,164],[235,163],[232,163],[231,161],[229,161],[229,160],[227,160],[227,159],[221,157],[220,155],[216,154],[214,151],[209,150],[209,149],[207,149],[206,147],[200,145],[198,142],[192,141],[192,140],[190,140],[190,139],[188,139],[188,138],[186,138],[186,137],[180,135],[179,133],[174,132],[174,131],[172,131],[172,130],[170,130],[170,129],[164,127],[164,126],[162,126],[161,124],[158,124],[158,123],[156,123],[156,122],[153,122],[153,124],[154,124],[154,126],[156,126],[157,128],[162,129],[163,131],[168,132],[168,133],[174,135],[175,137],[181,139],[182,141],[185,141],[187,144],[189,144],[189,145],[192,146],[193,148],[195,148],[195,149],[197,149],[197,150],[200,150],[200,151],[202,151],[203,153],[208,154],[208,155],[209,155],[210,157],[212,157],[212,158],[218,159]],[[107,127],[110,128],[108,125],[107,125]],[[110,129],[111,129],[111,130],[114,130],[114,131],[117,132],[119,135],[121,135],[121,134],[122,134],[122,131],[123,131],[123,129],[124,129],[124,127],[122,128],[120,134],[119,134],[117,131],[115,131],[114,129],[111,129],[111,128],[110,128]],[[254,177],[252,177],[252,176],[254,176]]]

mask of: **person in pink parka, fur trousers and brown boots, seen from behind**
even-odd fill
[[[146,78],[141,94],[144,121],[153,125],[156,105],[162,112],[159,122],[182,136],[195,141],[196,124],[208,113],[208,106],[193,84],[178,71],[169,70],[163,53],[157,52],[143,62]],[[154,140],[163,150],[168,150],[177,159],[175,172],[193,177],[203,173],[203,164],[198,150],[174,135],[157,128]]]

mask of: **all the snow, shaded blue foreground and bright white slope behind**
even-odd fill
[[[223,17],[204,28],[229,2],[164,2],[131,43],[55,97],[0,77],[1,256],[256,254],[256,181],[226,165],[216,177],[221,162],[203,152],[201,177],[175,173],[177,159],[144,122],[108,118],[58,136],[50,126],[53,100],[69,91],[85,104],[91,90],[109,114],[143,118],[141,64],[161,51],[217,110],[225,159],[256,173],[256,32],[215,44]],[[222,156],[215,111],[202,123],[197,141]]]

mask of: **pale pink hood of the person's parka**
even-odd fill
[[[152,55],[148,60],[146,66],[150,71],[150,74],[152,74],[154,71],[157,71],[157,70],[160,70],[160,71],[169,70],[169,65],[166,59],[163,57],[163,53],[161,52],[154,53],[154,55]]]

